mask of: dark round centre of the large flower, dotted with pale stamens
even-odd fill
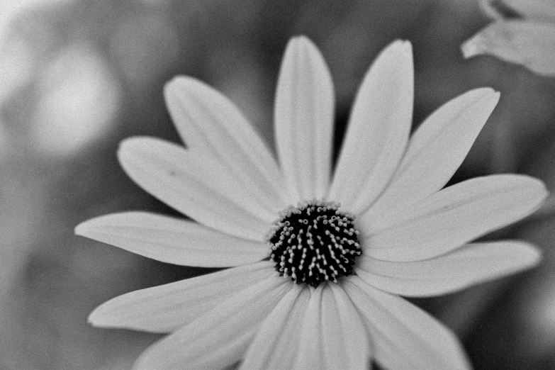
[[[361,254],[359,231],[353,217],[338,208],[313,201],[284,211],[267,239],[270,259],[281,276],[317,287],[352,274],[354,259]]]

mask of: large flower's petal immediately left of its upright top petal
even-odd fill
[[[269,210],[291,204],[284,177],[267,145],[237,106],[191,77],[175,77],[164,96],[187,147],[213,157]]]

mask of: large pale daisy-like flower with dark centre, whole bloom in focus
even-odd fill
[[[224,96],[191,77],[165,89],[186,149],[124,140],[143,189],[196,222],[145,212],[88,220],[78,235],[162,262],[232,267],[133,291],[96,308],[100,327],[169,332],[138,369],[469,367],[451,331],[400,296],[436,296],[532,267],[517,241],[471,242],[529,215],[541,181],[499,174],[444,185],[498,102],[475,89],[410,137],[413,57],[395,41],[364,77],[335,171],[334,95],[322,55],[293,38],[275,103],[276,162]],[[337,281],[337,282],[335,282]]]

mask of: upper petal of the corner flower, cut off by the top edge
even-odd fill
[[[479,4],[492,18],[506,18],[507,13],[516,13],[535,21],[555,21],[553,0],[481,0]]]

